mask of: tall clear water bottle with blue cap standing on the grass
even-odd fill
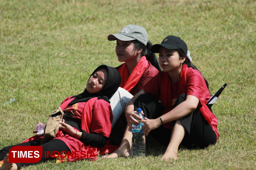
[[[141,108],[137,108],[137,115],[145,120],[145,117],[141,114]],[[136,118],[137,119],[137,118]],[[145,133],[142,131],[142,126],[144,123],[132,125],[135,129],[132,129],[132,146],[131,146],[131,156],[142,156],[145,155]]]

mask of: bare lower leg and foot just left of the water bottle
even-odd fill
[[[131,156],[131,140],[132,140],[131,128],[129,128],[129,126],[127,125],[120,147],[117,148],[117,150],[115,150],[110,155],[105,155],[102,157],[103,158],[117,158],[117,157]]]

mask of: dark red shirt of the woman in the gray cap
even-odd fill
[[[123,65],[123,64],[122,64]],[[116,67],[118,70],[122,65]],[[140,90],[143,89],[143,86],[152,79],[155,75],[157,75],[159,71],[148,61],[147,68],[143,72],[142,77],[138,81],[137,85],[132,88],[130,93],[134,96],[136,95]]]

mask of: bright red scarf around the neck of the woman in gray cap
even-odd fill
[[[122,78],[120,87],[130,92],[132,88],[136,86],[137,83],[139,82],[147,66],[148,66],[148,61],[146,57],[145,56],[141,57],[139,63],[135,66],[135,68],[131,72],[131,75],[129,76],[127,64],[124,63],[118,69],[118,72],[120,73]]]

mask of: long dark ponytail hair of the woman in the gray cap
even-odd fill
[[[147,61],[149,61],[158,71],[162,71],[159,66],[156,54],[150,51],[150,48],[152,47],[150,41],[147,42],[146,46],[137,39],[132,40],[132,43],[134,44],[134,51],[142,49],[141,56],[145,55]]]

